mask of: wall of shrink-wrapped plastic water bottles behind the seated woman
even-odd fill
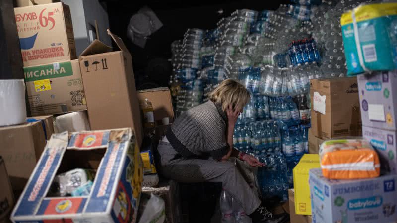
[[[308,151],[310,80],[345,76],[340,16],[364,1],[291,0],[275,11],[236,10],[214,29],[189,29],[172,43],[177,115],[228,78],[252,93],[233,141],[268,164],[258,173],[265,197],[283,200],[292,186],[292,169]]]

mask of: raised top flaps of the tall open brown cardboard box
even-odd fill
[[[116,43],[117,47],[119,47],[119,49],[121,51],[124,52],[129,52],[126,45],[124,45],[123,40],[116,36],[115,34],[113,34],[112,32],[110,32],[110,30],[108,29],[108,35],[110,37],[112,37],[113,41]],[[95,54],[103,54],[103,53],[109,53],[112,52],[113,49],[112,47],[102,43],[99,40],[94,40],[81,54],[80,56],[88,56],[88,55],[95,55]]]

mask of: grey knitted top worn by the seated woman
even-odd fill
[[[220,160],[229,151],[226,113],[208,101],[182,113],[167,130],[167,139],[184,158]]]

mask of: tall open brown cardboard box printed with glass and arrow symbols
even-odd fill
[[[79,58],[91,129],[131,127],[141,145],[142,120],[131,54],[119,37],[108,33],[120,50],[112,52],[94,40]]]

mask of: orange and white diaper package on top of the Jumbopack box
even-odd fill
[[[379,157],[363,139],[327,140],[320,146],[320,164],[329,179],[363,179],[378,177]]]

